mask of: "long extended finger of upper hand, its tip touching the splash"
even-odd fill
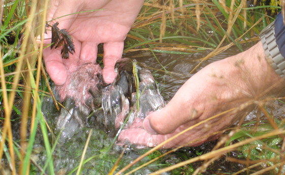
[[[112,83],[117,74],[115,73],[115,64],[122,57],[124,42],[108,42],[104,43],[103,56],[103,78],[106,83]]]

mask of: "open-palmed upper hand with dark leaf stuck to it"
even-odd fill
[[[67,74],[80,62],[95,62],[100,43],[104,44],[103,78],[106,83],[111,83],[116,77],[115,63],[123,54],[124,40],[143,3],[143,0],[51,0],[47,21],[76,12],[102,9],[51,21],[51,25],[58,21],[58,27],[69,32],[75,45],[75,53],[70,54],[68,60],[62,59],[60,49],[44,49],[46,69],[54,83],[64,84]],[[50,30],[45,36],[47,38],[49,40],[45,40],[45,43],[50,44]]]

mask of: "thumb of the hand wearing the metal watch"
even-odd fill
[[[166,107],[148,115],[143,126],[151,134],[168,134],[197,116],[197,111],[189,104],[174,97]]]

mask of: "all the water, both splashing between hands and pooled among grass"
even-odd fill
[[[235,52],[237,53],[238,51]],[[231,56],[232,54],[235,54],[235,52],[229,50],[226,54],[211,58],[203,62],[196,71],[215,60]],[[135,158],[147,152],[149,148],[137,149],[133,145],[127,145],[126,147],[116,145],[114,138],[116,138],[118,128],[123,126],[123,121],[128,116],[128,122],[125,123],[124,127],[128,127],[131,123],[136,122],[135,120],[144,118],[148,112],[162,108],[164,106],[164,100],[166,102],[170,100],[181,85],[191,77],[192,74],[189,74],[191,69],[198,64],[195,59],[201,58],[207,54],[208,53],[195,53],[187,56],[158,54],[157,57],[159,58],[159,61],[165,66],[165,69],[167,69],[169,73],[163,71],[160,64],[151,55],[146,55],[145,53],[125,55],[131,59],[136,59],[137,62],[146,63],[146,65],[148,65],[147,68],[151,70],[155,77],[155,79],[153,79],[152,76],[150,77],[151,74],[147,71],[146,67],[136,67],[138,72],[144,73],[138,75],[146,76],[139,78],[141,80],[147,80],[140,81],[138,86],[140,95],[139,107],[136,106],[137,94],[135,93],[135,83],[129,76],[132,74],[124,71],[120,72],[120,69],[117,69],[121,75],[120,78],[116,80],[116,83],[106,87],[104,87],[105,85],[102,83],[99,84],[98,90],[104,87],[100,93],[98,93],[96,88],[95,90],[92,88],[93,91],[86,90],[90,95],[87,95],[87,97],[84,98],[74,98],[70,94],[64,93],[64,106],[66,109],[62,108],[60,112],[57,112],[53,108],[52,100],[46,98],[43,102],[43,107],[46,109],[43,110],[44,115],[50,126],[54,128],[55,135],[60,135],[59,144],[56,146],[54,152],[55,172],[62,174],[73,172],[73,174],[75,174],[76,169],[74,168],[79,164],[82,150],[87,142],[87,137],[91,128],[93,129],[93,134],[91,135],[85,158],[89,159],[89,161],[83,165],[81,174],[107,174],[122,152],[124,152],[124,156],[117,169],[123,168]],[[133,66],[133,63],[131,63],[131,66],[128,65],[127,67],[133,68]],[[91,75],[93,76],[94,74]],[[100,79],[101,78],[98,77],[98,80]],[[84,85],[84,87],[86,87],[86,85]],[[157,89],[159,89],[160,92]],[[164,100],[160,93],[164,97]],[[154,98],[149,98],[150,94],[153,95],[152,97]],[[55,95],[58,99],[62,98],[59,93],[55,92]],[[156,99],[156,102],[152,102],[151,99]],[[100,104],[102,104],[102,106],[100,106]],[[79,105],[81,105],[81,107],[79,107]],[[126,115],[128,113],[130,115]],[[60,132],[62,133],[60,134]],[[44,164],[46,160],[43,148],[44,145],[41,144],[42,141],[40,141],[40,138],[37,142],[39,143],[37,146],[41,151],[35,156],[38,157],[39,164]],[[134,174],[148,174],[154,172],[166,166],[209,152],[214,145],[215,142],[210,142],[198,147],[182,148],[175,153],[158,159],[151,165],[136,171]],[[166,151],[168,150],[156,151],[134,165],[134,167],[138,167]],[[210,169],[213,170],[211,171],[214,172],[217,167],[222,166],[224,166],[224,168],[217,171],[235,172],[243,168],[242,165],[235,168],[226,166],[229,165],[229,162],[225,161],[223,158],[217,162],[219,163],[219,166],[212,166]],[[200,165],[201,162],[197,162],[178,168],[177,170],[165,172],[164,174],[181,174],[181,172],[191,174],[193,169]],[[227,167],[229,167],[229,169],[227,169]]]

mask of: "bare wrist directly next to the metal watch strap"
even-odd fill
[[[283,87],[279,82],[281,77],[274,71],[270,62],[265,56],[265,51],[261,42],[238,55],[228,58],[232,64],[238,80],[248,91],[258,91],[267,89],[272,85],[275,88]],[[278,84],[278,85],[277,85]]]

